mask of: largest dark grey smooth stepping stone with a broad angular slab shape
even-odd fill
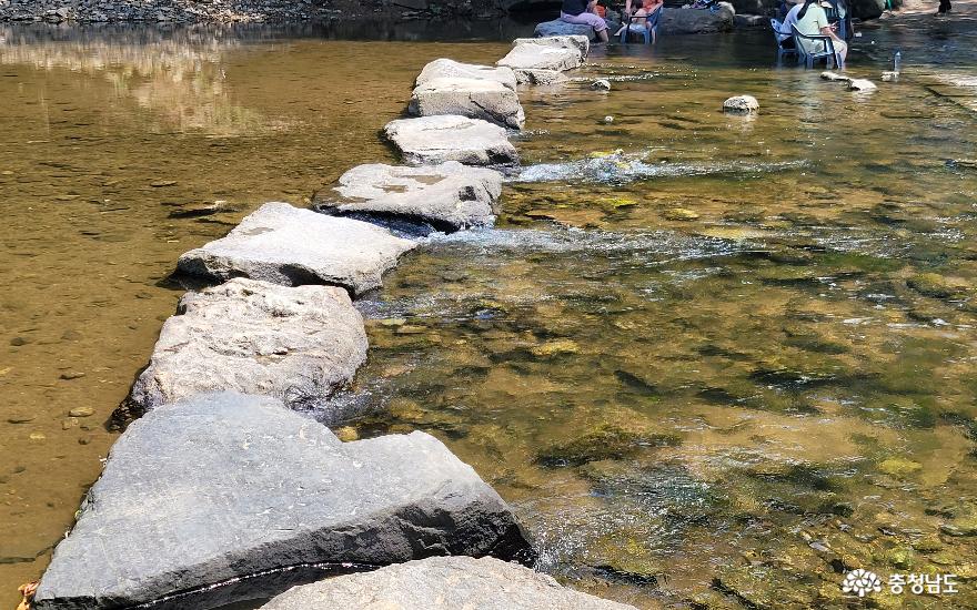
[[[441,441],[341,443],[273,398],[198,395],[115,441],[34,608],[128,608],[290,566],[437,555],[532,555],[502,498]],[[211,607],[198,597],[178,607]]]

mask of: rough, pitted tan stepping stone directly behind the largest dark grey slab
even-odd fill
[[[345,289],[235,278],[180,299],[130,407],[141,413],[228,389],[315,409],[334,424],[349,414],[332,410],[328,398],[365,360],[363,317]]]

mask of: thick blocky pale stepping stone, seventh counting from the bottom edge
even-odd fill
[[[407,110],[414,116],[456,114],[482,119],[504,128],[522,129],[526,122],[515,91],[484,78],[439,77],[414,88]]]

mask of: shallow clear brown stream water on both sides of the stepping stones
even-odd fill
[[[867,95],[775,67],[766,32],[522,92],[497,228],[432,237],[360,303],[371,359],[338,399],[377,415],[350,426],[434,434],[542,569],[638,607],[837,604],[850,567],[953,572],[939,603],[977,604],[977,44],[909,26],[858,39],[855,75],[908,64]],[[179,254],[393,161],[377,130],[420,68],[506,44],[0,38],[8,604],[98,476]],[[736,93],[759,115],[717,112]]]

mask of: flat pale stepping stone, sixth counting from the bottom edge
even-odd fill
[[[400,119],[387,123],[384,133],[410,165],[445,161],[469,165],[518,163],[518,153],[505,129],[480,119],[454,114]]]

